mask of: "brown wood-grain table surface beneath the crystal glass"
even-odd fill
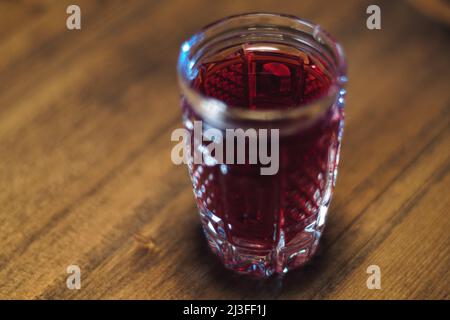
[[[449,299],[448,29],[404,1],[0,2],[1,298]],[[224,271],[185,167],[175,64],[201,26],[286,12],[344,45],[350,84],[337,188],[317,257],[284,278]],[[68,265],[80,290],[66,287]],[[381,290],[369,290],[370,265]]]

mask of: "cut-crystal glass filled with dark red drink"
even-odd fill
[[[207,141],[189,140],[203,155],[187,165],[210,248],[227,268],[256,276],[306,263],[336,181],[347,81],[341,46],[294,16],[232,16],[183,43],[178,76],[192,137],[197,121],[203,133],[279,132],[278,170],[266,175],[264,164],[219,163],[205,153]]]

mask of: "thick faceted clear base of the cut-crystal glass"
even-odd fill
[[[326,215],[327,208],[323,208]],[[231,243],[225,236],[221,222],[211,213],[200,212],[203,231],[211,250],[222,260],[226,268],[241,274],[256,277],[270,277],[273,274],[287,273],[307,263],[317,250],[323,225],[319,226],[320,217],[298,232],[289,243],[271,249],[257,246],[242,246]],[[319,213],[320,216],[320,213]],[[283,234],[281,237],[283,238]]]

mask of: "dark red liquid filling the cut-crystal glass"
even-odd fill
[[[317,57],[248,47],[201,64],[192,86],[230,106],[262,110],[302,108],[332,84]],[[183,109],[189,121],[202,120],[186,102]],[[273,176],[261,175],[259,165],[191,164],[206,236],[225,265],[267,276],[314,253],[334,185],[342,118],[341,108],[330,106],[306,127],[280,131],[280,166]]]

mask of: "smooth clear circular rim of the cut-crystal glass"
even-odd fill
[[[315,99],[310,103],[301,105],[293,105],[287,109],[265,109],[251,110],[239,106],[231,106],[219,99],[204,95],[199,90],[191,86],[193,76],[191,69],[195,66],[193,55],[196,50],[201,49],[205,45],[208,37],[214,37],[214,32],[227,31],[227,25],[233,22],[239,22],[241,19],[247,19],[248,22],[254,19],[254,24],[244,25],[244,27],[287,27],[293,32],[300,32],[309,35],[323,49],[328,50],[334,60],[335,70],[332,74],[332,84],[328,88],[326,94]],[[280,19],[279,23],[264,24],[264,20]],[[260,21],[258,21],[260,20]],[[281,22],[283,24],[281,24]],[[267,22],[266,22],[267,23]],[[207,33],[212,33],[208,35]],[[177,73],[178,82],[182,95],[187,99],[193,110],[208,122],[216,126],[232,125],[239,121],[251,122],[269,122],[283,121],[298,118],[316,118],[336,102],[342,89],[347,82],[347,65],[344,50],[342,46],[334,40],[334,38],[318,24],[311,23],[294,15],[278,14],[278,13],[243,13],[224,17],[220,20],[212,22],[201,28],[199,32],[191,36],[181,45],[178,58]]]

